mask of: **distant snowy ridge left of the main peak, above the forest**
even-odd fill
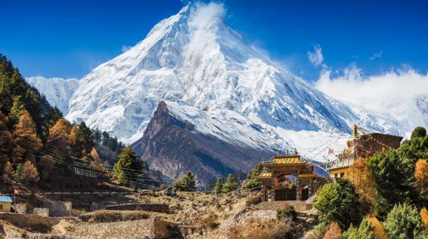
[[[57,106],[62,114],[68,114],[68,102],[79,86],[77,79],[30,77],[26,78],[26,81],[32,87],[37,88],[50,105]]]

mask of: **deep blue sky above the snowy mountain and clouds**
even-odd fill
[[[218,1],[217,1],[218,2]],[[364,74],[402,65],[428,70],[427,1],[221,1],[224,21],[295,74],[322,65]],[[0,1],[0,53],[23,76],[81,78],[144,39],[182,1]],[[309,61],[319,45],[323,61]]]

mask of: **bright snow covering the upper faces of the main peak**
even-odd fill
[[[66,118],[132,143],[159,101],[181,100],[271,127],[349,130],[356,121],[349,107],[277,67],[223,17],[222,5],[197,3],[159,22],[146,39],[81,79]]]

